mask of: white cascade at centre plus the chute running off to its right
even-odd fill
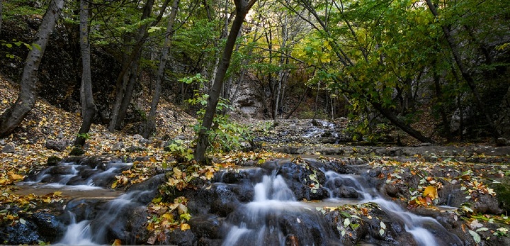
[[[333,171],[324,173],[324,186],[330,196],[327,203],[377,203],[392,219],[401,221],[416,245],[447,245],[451,242],[462,245],[457,236],[449,234],[435,219],[412,214],[398,204],[378,197],[376,190],[363,186],[358,177],[340,175]],[[296,239],[292,232],[298,230],[309,230],[309,238],[299,238],[300,245],[340,244],[340,238],[332,236],[334,234],[327,228],[323,214],[311,208],[313,203],[310,205],[296,201],[285,179],[273,171],[272,175],[265,175],[261,182],[254,185],[253,201],[241,205],[227,217],[223,225],[227,231],[223,245],[293,245],[296,243],[293,240]],[[300,222],[305,219],[313,221],[307,223],[307,226],[312,224],[317,225],[317,228],[297,229],[295,223],[288,223],[291,220]],[[320,236],[314,233],[314,230],[320,232]],[[441,236],[447,235],[448,238],[438,238],[434,233],[438,230],[442,231]],[[318,241],[317,238],[323,240]]]

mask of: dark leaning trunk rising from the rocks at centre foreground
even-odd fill
[[[218,73],[214,78],[214,84],[210,90],[209,98],[207,98],[207,107],[203,116],[201,130],[198,131],[198,139],[194,152],[194,159],[198,163],[205,162],[205,151],[209,146],[209,134],[207,131],[210,130],[214,115],[216,114],[216,106],[218,105],[221,87],[223,86],[223,79],[230,65],[230,58],[232,57],[234,45],[236,45],[237,34],[239,30],[241,30],[246,14],[249,9],[252,8],[255,1],[256,0],[234,0],[234,3],[236,3],[236,17],[232,22],[232,27],[230,27],[227,43],[225,44],[225,49],[223,49],[223,56],[218,65]]]

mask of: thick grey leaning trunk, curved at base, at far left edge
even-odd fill
[[[10,109],[0,115],[0,137],[6,137],[12,133],[14,128],[19,126],[27,113],[35,105],[35,87],[37,84],[39,64],[43,58],[46,45],[48,45],[50,34],[53,32],[57,20],[59,19],[63,4],[63,0],[52,0],[48,5],[48,10],[46,10],[41,25],[39,25],[39,30],[37,30],[35,34],[32,49],[28,52],[25,67],[23,67],[18,98]]]

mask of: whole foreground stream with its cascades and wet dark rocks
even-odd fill
[[[366,177],[327,170],[312,159],[308,162],[303,166],[286,160],[268,161],[261,168],[216,172],[209,189],[185,191],[193,201],[188,204],[192,230],[172,232],[161,243],[350,245],[349,240],[354,240],[364,245],[464,245],[436,219],[412,214],[385,199]],[[58,189],[72,197],[57,217],[63,230],[50,242],[54,245],[111,245],[115,239],[124,245],[143,244],[146,205],[157,186],[128,192],[98,186],[130,166],[111,160],[94,165],[63,161],[19,183],[20,192]],[[369,225],[365,232],[351,230],[346,219],[332,217],[333,212],[321,212],[325,207],[363,204],[380,207],[378,214],[368,216],[380,220],[374,225],[360,217],[357,221],[356,216],[350,218],[351,224]]]

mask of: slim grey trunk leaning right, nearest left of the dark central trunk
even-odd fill
[[[145,138],[149,138],[151,133],[156,131],[156,110],[158,109],[159,97],[161,96],[161,82],[163,82],[163,79],[165,78],[165,67],[167,64],[168,53],[170,52],[170,45],[172,44],[177,8],[179,8],[179,0],[174,0],[174,3],[172,4],[172,12],[170,12],[170,16],[168,17],[167,32],[165,33],[165,43],[163,45],[163,50],[161,51],[158,74],[156,75],[156,81],[154,81],[154,95],[152,96],[152,102],[150,103],[150,111],[147,117],[147,122],[145,122],[145,126],[143,128],[142,136]]]

